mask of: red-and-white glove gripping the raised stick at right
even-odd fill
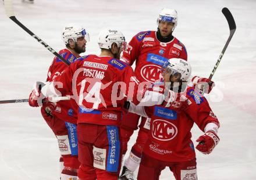
[[[192,83],[194,87],[200,91],[201,94],[211,93],[212,88],[215,86],[215,83],[208,78],[200,78],[198,76],[194,76],[192,78]]]

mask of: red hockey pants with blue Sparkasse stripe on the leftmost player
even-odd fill
[[[60,163],[63,161],[62,175],[77,176],[80,162],[78,160],[78,142],[76,124],[64,122],[58,117],[48,115],[44,107],[41,108],[42,117],[54,132],[58,139],[59,150],[61,152]]]

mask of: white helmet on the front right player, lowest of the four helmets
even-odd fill
[[[186,82],[191,75],[191,65],[189,62],[183,60],[182,58],[170,58],[168,63],[163,67],[162,72],[168,72],[171,75],[179,73],[181,75],[180,80]]]

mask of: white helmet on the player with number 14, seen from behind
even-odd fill
[[[125,36],[116,29],[107,28],[99,32],[98,45],[101,49],[111,49],[112,43],[116,43],[118,47],[126,48]]]

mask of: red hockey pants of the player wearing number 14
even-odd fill
[[[119,127],[79,123],[80,180],[118,179],[121,165]]]

